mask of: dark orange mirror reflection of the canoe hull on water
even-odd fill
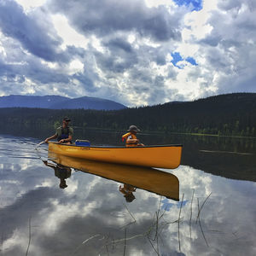
[[[62,166],[69,166],[82,172],[106,177],[119,183],[130,184],[138,189],[148,190],[158,195],[179,200],[179,181],[168,172],[148,167],[125,166],[110,163],[82,160],[49,152],[50,160]]]

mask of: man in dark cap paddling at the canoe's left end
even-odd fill
[[[68,117],[65,117],[62,120],[62,125],[57,128],[55,135],[46,138],[44,140],[44,143],[48,143],[49,140],[52,140],[55,138],[57,138],[57,141],[59,143],[65,143],[65,144],[72,143],[73,128],[68,126],[69,122],[70,122],[70,119]]]

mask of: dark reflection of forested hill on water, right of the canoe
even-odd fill
[[[256,181],[254,147],[249,139],[190,138],[183,144],[182,164],[222,177]]]

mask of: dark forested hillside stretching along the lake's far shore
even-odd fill
[[[63,116],[74,127],[124,131],[137,125],[143,131],[205,133],[256,137],[256,94],[211,96],[195,102],[125,108],[114,111],[0,108],[0,132],[49,131]]]

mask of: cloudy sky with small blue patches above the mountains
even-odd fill
[[[254,0],[0,0],[0,96],[256,92],[255,44]]]

